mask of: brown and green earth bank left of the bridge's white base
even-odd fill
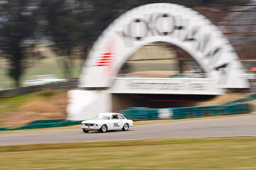
[[[43,91],[0,99],[0,127],[19,127],[34,120],[65,119],[66,91]]]

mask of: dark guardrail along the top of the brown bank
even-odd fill
[[[70,78],[67,81],[58,83],[50,83],[45,85],[33,85],[28,87],[19,87],[16,89],[0,90],[0,98],[14,97],[22,94],[30,94],[40,90],[71,90],[76,89],[79,83],[79,78]]]

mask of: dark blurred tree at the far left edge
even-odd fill
[[[36,52],[36,11],[38,1],[9,0],[0,6],[0,50],[9,66],[9,75],[20,85],[20,76],[42,55]]]

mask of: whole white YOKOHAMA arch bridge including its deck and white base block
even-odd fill
[[[207,78],[118,77],[134,52],[157,41],[184,50],[202,67]],[[140,103],[138,98],[145,96],[153,101],[162,96],[168,101],[170,96],[216,96],[225,89],[246,88],[242,67],[227,38],[197,11],[166,3],[139,6],[121,15],[102,32],[84,65],[80,88],[106,90],[70,91],[68,115],[72,120],[84,120],[127,106],[171,104]],[[139,97],[127,100],[127,94]]]

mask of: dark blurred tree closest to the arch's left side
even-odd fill
[[[88,53],[91,29],[85,22],[86,9],[83,1],[42,1],[45,35],[52,42],[51,48],[64,68],[65,78],[72,77],[74,61],[84,59]]]

